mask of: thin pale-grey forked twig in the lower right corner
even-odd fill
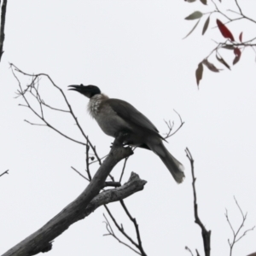
[[[236,201],[236,197],[235,197],[235,196],[234,196],[234,200]],[[230,239],[228,239],[228,242],[229,242],[229,245],[230,245],[230,256],[232,255],[233,248],[234,248],[236,242],[240,241],[243,236],[246,236],[246,235],[247,235],[247,232],[252,231],[252,230],[254,230],[254,228],[255,228],[255,226],[253,226],[253,228],[248,229],[248,230],[245,230],[245,231],[241,234],[241,236],[238,236],[239,233],[240,233],[240,231],[241,231],[241,229],[242,229],[242,227],[243,227],[244,224],[245,224],[246,219],[247,219],[247,213],[244,214],[244,213],[242,212],[241,207],[239,206],[239,204],[238,204],[237,201],[236,201],[236,206],[238,207],[239,211],[241,212],[241,218],[242,218],[241,224],[240,224],[239,228],[238,228],[236,231],[234,230],[232,224],[230,223],[230,218],[229,218],[228,210],[226,209],[226,212],[225,212],[225,217],[226,217],[227,222],[228,222],[228,224],[230,225],[230,229],[232,230],[232,233],[233,233],[233,239],[232,239],[232,241],[230,241]]]

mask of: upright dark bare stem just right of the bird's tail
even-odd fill
[[[199,215],[198,215],[198,205],[197,205],[196,191],[195,191],[196,178],[195,178],[195,170],[194,170],[194,159],[192,157],[192,154],[189,151],[189,148],[186,148],[185,152],[190,161],[191,172],[192,172],[192,188],[193,188],[193,195],[194,195],[195,223],[201,227],[201,236],[203,238],[205,255],[210,256],[210,253],[211,253],[211,230],[207,231],[204,224],[201,223],[201,219],[199,218]]]

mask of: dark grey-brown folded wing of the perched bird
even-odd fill
[[[116,112],[122,119],[146,128],[149,131],[153,131],[159,135],[159,131],[151,123],[151,121],[145,117],[143,113],[140,113],[136,108],[131,106],[130,103],[118,99],[108,99],[106,103],[107,102],[109,106],[113,108],[113,111]]]

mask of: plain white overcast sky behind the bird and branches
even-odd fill
[[[234,1],[224,1],[226,9]],[[242,1],[240,1],[242,2]],[[195,21],[183,20],[195,10],[213,7],[184,1],[9,1],[6,40],[0,63],[1,171],[0,253],[38,230],[85,188],[86,182],[72,171],[84,172],[84,148],[48,128],[26,124],[38,122],[14,99],[18,89],[9,62],[27,73],[48,73],[66,91],[84,131],[100,155],[108,154],[113,138],[106,136],[85,113],[88,100],[67,91],[68,84],[96,84],[108,96],[131,102],[166,132],[163,119],[178,123],[173,108],[185,125],[166,147],[185,166],[186,179],[177,185],[160,159],[138,149],[128,162],[124,181],[137,172],[148,183],[142,192],[125,200],[137,218],[143,247],[148,255],[190,255],[184,247],[203,255],[201,230],[194,224],[189,147],[195,159],[199,213],[212,230],[212,255],[229,255],[231,238],[224,212],[237,228],[241,224],[233,196],[248,212],[246,229],[256,224],[255,194],[255,55],[246,49],[241,61],[221,73],[206,70],[200,90],[195,68],[214,47],[211,38],[223,40],[217,29],[201,37],[203,22],[189,38],[182,38]],[[252,18],[253,0],[241,4]],[[210,27],[215,26],[212,16]],[[238,38],[255,37],[249,22],[231,24]],[[255,29],[255,28],[254,28]],[[231,63],[232,53],[224,53]],[[215,61],[215,63],[217,63]],[[216,64],[221,67],[220,64]],[[223,68],[223,67],[221,67]],[[47,86],[44,80],[41,87]],[[61,107],[59,96],[44,90],[44,100]],[[53,115],[54,114],[54,115]],[[65,114],[49,114],[55,125],[83,139]],[[118,175],[121,166],[113,174]],[[97,166],[93,166],[96,170]],[[109,205],[119,223],[132,232],[119,203]],[[136,255],[106,233],[99,208],[90,217],[73,224],[55,239],[47,255]],[[118,231],[116,231],[118,233]],[[239,241],[233,253],[256,251],[256,232]]]

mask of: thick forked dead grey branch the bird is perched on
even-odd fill
[[[3,256],[27,256],[41,252],[47,252],[52,247],[52,241],[60,236],[68,227],[85,218],[96,207],[110,201],[119,201],[139,190],[143,189],[145,181],[141,181],[137,175],[132,174],[128,183],[117,189],[107,190],[100,193],[104,186],[108,174],[113,167],[122,159],[132,154],[131,148],[122,147],[122,135],[114,140],[113,148],[102,166],[99,167],[95,176],[92,178],[84,192],[79,197],[65,207],[54,218],[49,220],[41,229],[20,241],[15,247],[11,248]],[[89,212],[89,213],[88,213]]]

